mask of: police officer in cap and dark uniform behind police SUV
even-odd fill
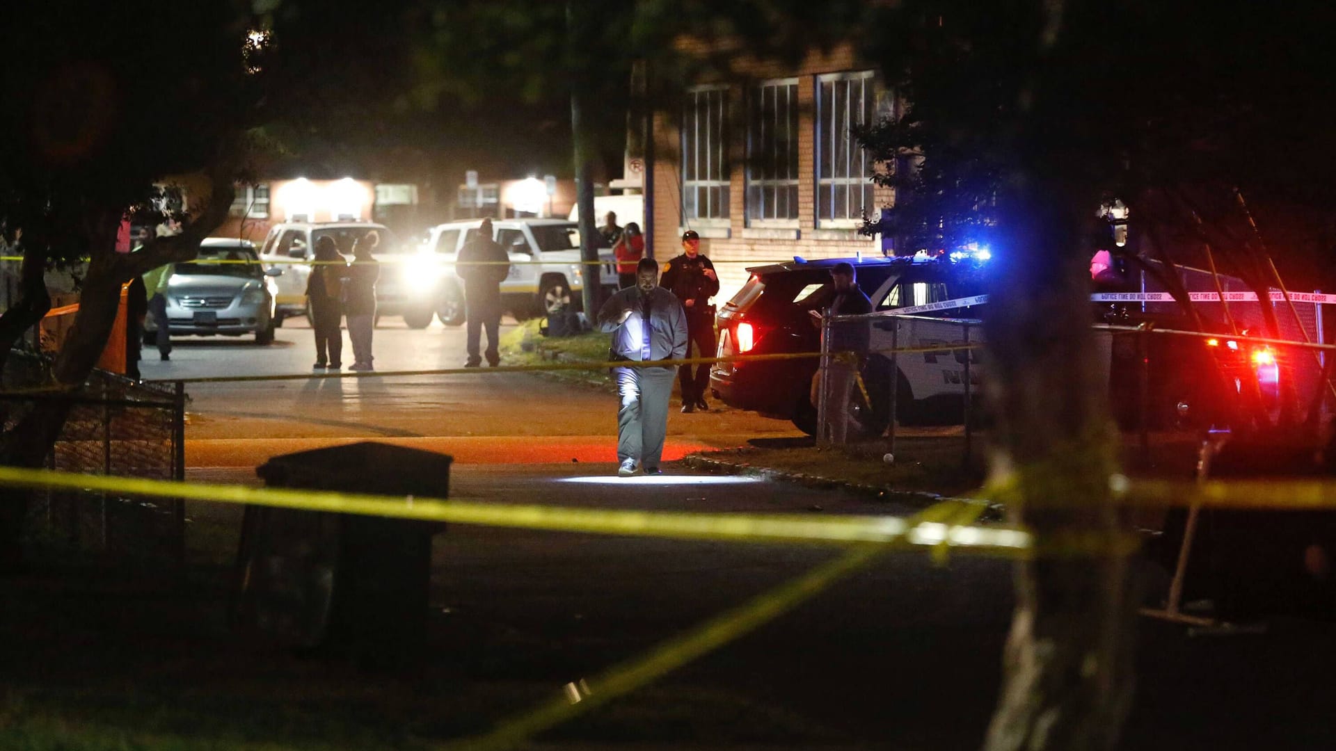
[[[713,357],[715,306],[709,305],[709,298],[719,293],[719,277],[715,274],[715,265],[700,254],[700,235],[695,230],[683,233],[681,250],[681,255],[668,262],[660,283],[677,295],[687,311],[687,329],[691,342],[696,345],[696,357]],[[695,376],[689,365],[680,366],[677,381],[681,386],[683,412],[709,409],[705,404],[708,363],[696,366]]]

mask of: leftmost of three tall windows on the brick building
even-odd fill
[[[681,124],[681,214],[685,220],[728,219],[728,94],[687,92]]]

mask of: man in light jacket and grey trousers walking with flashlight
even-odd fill
[[[677,359],[687,354],[687,315],[677,298],[660,287],[659,262],[641,258],[636,285],[619,290],[599,310],[599,330],[612,333],[613,361]],[[615,367],[617,381],[619,477],[636,469],[663,474],[664,437],[672,366]]]

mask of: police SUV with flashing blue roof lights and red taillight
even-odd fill
[[[871,404],[855,389],[851,405],[863,434],[879,434],[890,421],[891,388],[896,389],[896,416],[900,424],[959,422],[965,406],[965,362],[969,378],[981,377],[979,350],[949,350],[896,357],[895,346],[963,342],[974,327],[973,341],[982,339],[975,309],[951,301],[982,294],[986,257],[969,259],[831,258],[749,269],[751,278],[725,302],[717,314],[719,357],[733,354],[812,353],[820,350],[820,331],[811,311],[824,310],[834,295],[831,269],[852,263],[859,289],[872,302],[874,311],[918,310],[904,318],[882,318],[871,323],[871,353],[863,363],[863,380]],[[934,305],[946,305],[931,310]],[[754,362],[717,362],[709,373],[715,398],[729,406],[792,420],[807,432],[816,429],[812,378],[816,358]],[[977,389],[975,389],[977,392]]]

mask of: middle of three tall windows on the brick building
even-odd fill
[[[798,219],[798,79],[766,82],[747,103],[747,220]]]

